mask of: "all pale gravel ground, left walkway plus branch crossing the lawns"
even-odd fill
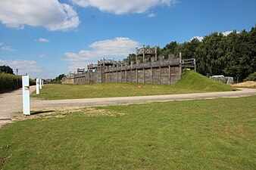
[[[36,89],[36,86],[30,87],[30,94]],[[241,91],[222,91],[194,94],[169,94],[152,95],[139,97],[105,97],[90,99],[70,99],[70,100],[40,100],[30,98],[31,110],[45,110],[45,108],[70,108],[70,107],[94,107],[114,104],[133,104],[153,101],[167,100],[192,100],[218,97],[243,97],[256,95],[255,88],[239,88]],[[0,94],[0,127],[22,112],[22,89]]]

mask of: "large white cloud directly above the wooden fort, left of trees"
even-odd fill
[[[67,52],[64,60],[70,62],[69,70],[74,71],[76,68],[84,68],[88,63],[95,63],[103,57],[123,59],[126,55],[135,53],[136,47],[139,46],[139,42],[129,38],[107,39],[89,45],[92,50],[81,50],[77,53]]]

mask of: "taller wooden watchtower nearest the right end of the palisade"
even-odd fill
[[[138,63],[138,57],[142,56],[142,62],[145,63],[146,59],[155,57],[155,60],[158,58],[157,47],[155,48],[145,48],[143,45],[142,48],[136,48],[136,63]]]

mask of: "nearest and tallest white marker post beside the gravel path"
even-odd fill
[[[30,115],[30,78],[22,76],[23,114]]]

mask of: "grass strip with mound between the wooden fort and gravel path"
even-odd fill
[[[142,88],[138,88],[141,85]],[[34,91],[32,97],[48,100],[126,97],[159,94],[185,94],[208,91],[232,91],[230,85],[208,79],[193,71],[183,73],[182,79],[174,85],[136,84],[136,83],[97,83],[86,85],[45,85],[40,94]]]

